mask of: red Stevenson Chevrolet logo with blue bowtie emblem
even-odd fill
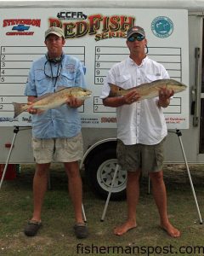
[[[41,20],[36,19],[11,19],[3,20],[3,27],[12,26],[12,32],[6,32],[7,36],[32,36],[31,26],[41,26]]]

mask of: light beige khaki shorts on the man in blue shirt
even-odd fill
[[[54,161],[74,162],[82,160],[83,143],[82,133],[71,138],[32,138],[33,155],[38,164],[46,164]]]

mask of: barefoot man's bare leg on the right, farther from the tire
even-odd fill
[[[156,206],[160,214],[161,228],[166,230],[169,236],[179,237],[180,231],[173,227],[167,217],[167,192],[163,181],[163,172],[150,172],[150,179]]]

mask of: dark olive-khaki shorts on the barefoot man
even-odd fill
[[[136,172],[139,169],[147,175],[149,172],[160,172],[163,166],[163,143],[165,138],[156,145],[125,145],[117,140],[117,160],[123,170]]]

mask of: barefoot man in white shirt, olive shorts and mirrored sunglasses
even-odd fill
[[[167,193],[162,173],[167,125],[161,108],[167,108],[174,92],[162,88],[158,97],[143,101],[139,101],[136,89],[125,96],[110,97],[108,83],[129,89],[157,79],[169,79],[166,69],[145,54],[147,39],[142,27],[133,26],[127,31],[126,44],[130,55],[111,67],[101,95],[105,106],[116,108],[117,159],[127,170],[127,221],[116,227],[114,233],[122,236],[137,226],[135,212],[139,201],[139,177],[141,173],[148,173],[161,228],[169,236],[178,237],[180,231],[167,218]]]

